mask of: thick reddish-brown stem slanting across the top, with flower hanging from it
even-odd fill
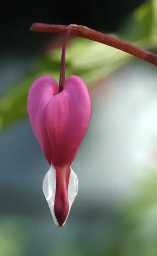
[[[157,55],[152,52],[146,51],[137,46],[121,41],[120,39],[111,37],[110,35],[105,35],[93,29],[89,29],[88,27],[85,27],[85,26],[81,26],[81,25],[69,25],[69,26],[73,27],[71,31],[71,35],[87,38],[87,39],[99,42],[101,44],[106,44],[108,46],[120,49],[123,52],[127,52],[131,55],[134,55],[138,58],[143,59],[144,61],[147,61],[157,66]],[[31,26],[31,30],[38,31],[38,32],[66,34],[69,31],[69,26],[34,23]]]

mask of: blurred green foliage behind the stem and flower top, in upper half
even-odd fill
[[[138,47],[151,49],[157,45],[157,1],[152,0],[135,10],[119,35]],[[31,84],[40,76],[50,75],[57,81],[60,73],[61,49],[55,49],[35,60],[34,70],[23,74],[12,89],[0,97],[0,129],[27,116],[27,95]],[[80,76],[88,88],[104,79],[133,58],[123,51],[83,38],[76,38],[66,50],[66,77]]]

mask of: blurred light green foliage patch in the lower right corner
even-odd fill
[[[122,241],[117,255],[157,255],[157,175],[149,175],[138,184],[131,202],[121,209]]]

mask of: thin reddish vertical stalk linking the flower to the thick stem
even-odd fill
[[[73,29],[73,27],[70,27],[68,32],[66,33],[66,36],[63,42],[63,47],[62,47],[62,56],[61,56],[61,62],[60,62],[59,93],[63,90],[63,85],[66,80],[66,42],[71,33],[71,29]]]

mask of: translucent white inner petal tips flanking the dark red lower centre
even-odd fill
[[[70,167],[70,169],[71,169],[71,167]],[[70,212],[71,205],[73,204],[74,199],[77,196],[77,192],[78,192],[78,178],[77,178],[77,175],[74,173],[74,171],[71,169],[70,178],[69,178],[69,186],[68,186],[69,212]],[[44,193],[46,200],[49,204],[49,208],[50,208],[54,223],[57,226],[59,226],[56,216],[54,214],[54,199],[55,199],[55,194],[56,194],[56,170],[52,164],[43,180],[43,193]],[[69,215],[69,212],[68,212],[68,215]],[[68,215],[67,215],[67,218],[68,218]],[[67,218],[66,218],[66,220],[67,220]],[[66,223],[66,221],[64,222],[64,224],[65,223]]]

